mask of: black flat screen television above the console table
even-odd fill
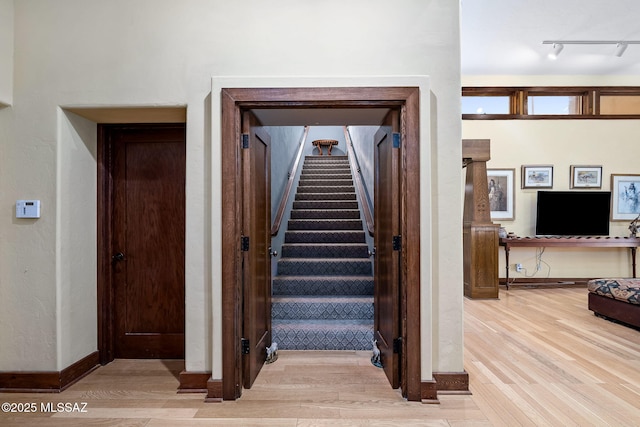
[[[537,236],[608,236],[610,191],[538,191]]]

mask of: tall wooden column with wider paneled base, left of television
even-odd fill
[[[488,139],[462,141],[463,166],[467,168],[464,192],[462,244],[464,295],[498,298],[499,224],[491,222],[487,160]]]

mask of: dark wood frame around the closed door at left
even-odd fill
[[[184,123],[151,123],[151,124],[98,124],[97,137],[97,311],[98,311],[98,354],[101,365],[112,362],[115,358],[115,294],[112,286],[113,269],[113,141],[108,137],[108,129],[113,127],[132,129],[172,128]],[[185,141],[186,144],[186,141]],[[186,206],[185,206],[186,207]]]

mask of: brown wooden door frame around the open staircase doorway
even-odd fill
[[[207,399],[241,395],[240,338],[241,212],[240,138],[242,112],[256,108],[391,108],[401,121],[401,372],[406,398],[420,401],[420,90],[418,87],[221,89],[222,168],[222,381],[210,384]],[[405,385],[403,384],[403,385]],[[425,396],[426,397],[426,396]]]

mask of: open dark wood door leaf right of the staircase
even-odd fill
[[[393,388],[400,386],[400,159],[394,144],[397,113],[391,112],[375,134],[374,244],[375,339],[385,374]],[[396,134],[399,138],[400,134]]]

